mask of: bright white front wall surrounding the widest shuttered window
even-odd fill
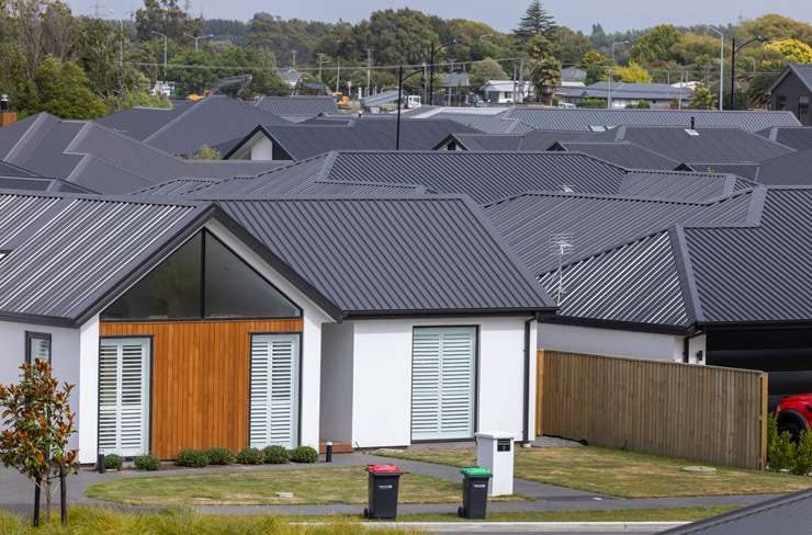
[[[354,321],[352,441],[359,447],[411,442],[411,333],[415,327],[478,326],[477,430],[522,435],[525,320],[437,318]],[[535,339],[535,327],[531,341]],[[531,348],[534,350],[534,348]],[[532,355],[531,355],[532,356]],[[534,421],[535,358],[530,358]],[[529,428],[532,433],[532,426]]]

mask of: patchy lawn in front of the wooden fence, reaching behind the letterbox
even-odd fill
[[[382,449],[380,455],[452,466],[476,464],[474,448]],[[812,478],[718,466],[715,474],[680,468],[697,462],[606,447],[517,448],[516,477],[622,498],[790,492]]]

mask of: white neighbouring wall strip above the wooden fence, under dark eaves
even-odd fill
[[[539,325],[539,349],[683,362],[683,337],[620,329]]]

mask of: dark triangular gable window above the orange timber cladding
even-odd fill
[[[298,318],[302,310],[205,230],[138,281],[108,320]]]

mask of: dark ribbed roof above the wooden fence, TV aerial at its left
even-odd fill
[[[684,223],[567,263],[560,310],[564,320],[635,322],[646,329],[812,322],[811,259],[805,247],[812,240],[812,189],[759,191],[756,195],[762,198],[754,197],[744,223]],[[655,240],[668,246],[650,259],[645,246]],[[641,265],[652,271],[638,272],[634,284],[589,294],[598,281],[613,284]],[[650,301],[647,284],[663,272],[678,273],[678,295],[672,291]],[[555,271],[541,281],[548,289],[557,287]],[[642,307],[635,316],[616,314],[628,301],[647,303],[656,315],[643,314]],[[674,323],[675,318],[679,322]]]

